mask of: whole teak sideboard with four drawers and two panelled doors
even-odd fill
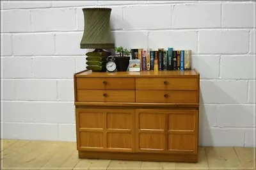
[[[74,74],[79,158],[197,162],[196,70]]]

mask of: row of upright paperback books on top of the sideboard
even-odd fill
[[[131,49],[131,58],[140,60],[140,70],[191,70],[191,50]]]

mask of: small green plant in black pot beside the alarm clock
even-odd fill
[[[116,70],[119,72],[126,71],[129,66],[131,51],[122,46],[115,47],[115,51],[117,52],[115,56]]]

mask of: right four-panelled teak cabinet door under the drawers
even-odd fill
[[[136,110],[136,151],[197,153],[198,111]]]

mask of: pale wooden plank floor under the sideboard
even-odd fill
[[[255,148],[200,147],[198,163],[79,159],[76,143],[1,139],[1,169],[255,169]]]

